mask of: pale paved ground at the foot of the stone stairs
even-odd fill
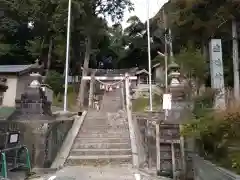
[[[140,174],[140,180],[172,180],[165,177],[156,177],[154,172],[136,170],[131,165],[125,166],[71,166],[64,167],[54,174],[31,180],[137,180],[135,174]]]

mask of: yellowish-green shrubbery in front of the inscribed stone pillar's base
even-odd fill
[[[183,134],[196,139],[200,155],[240,173],[240,105],[213,110],[214,92],[194,100],[193,118]]]

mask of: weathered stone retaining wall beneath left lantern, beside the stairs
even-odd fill
[[[61,147],[66,134],[72,127],[73,120],[66,121],[2,121],[2,132],[20,131],[20,143],[26,145],[32,167],[50,167]]]

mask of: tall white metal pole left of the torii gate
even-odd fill
[[[65,64],[65,84],[64,84],[64,111],[67,111],[67,90],[68,90],[68,69],[69,69],[69,46],[70,46],[70,25],[71,25],[71,5],[68,0],[68,24],[67,24],[67,45],[66,45],[66,64]]]

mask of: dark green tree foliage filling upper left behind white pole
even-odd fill
[[[47,65],[51,59],[51,68],[62,71],[65,60],[66,25],[68,13],[68,1],[66,0],[18,0],[1,1],[1,11],[4,16],[0,19],[0,57],[17,59],[13,63],[23,64],[39,58]],[[2,6],[3,4],[3,6]],[[82,64],[85,50],[86,36],[92,38],[93,64],[100,52],[99,43],[108,36],[107,22],[105,17],[114,21],[120,21],[126,9],[132,10],[129,0],[72,0],[71,16],[71,72],[79,69]],[[103,17],[103,18],[100,18]],[[28,28],[28,22],[34,26]],[[53,49],[50,57],[48,50],[50,40],[53,40]],[[104,42],[106,43],[106,41]],[[19,54],[18,54],[19,52]],[[5,55],[8,57],[5,57]],[[21,61],[19,56],[24,57]],[[10,58],[9,58],[10,56]],[[20,62],[21,61],[21,62]],[[79,68],[76,68],[76,67]],[[78,69],[78,70],[76,70]]]

